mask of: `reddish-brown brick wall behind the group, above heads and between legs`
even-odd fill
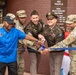
[[[67,15],[69,14],[76,14],[76,0],[67,0]],[[30,13],[32,10],[37,10],[40,14],[40,18],[46,23],[46,18],[45,15],[47,12],[50,11],[50,5],[51,0],[7,0],[6,2],[6,12],[12,12],[16,13],[17,10],[24,9],[26,10],[27,13],[27,22],[29,22],[30,19]],[[24,53],[25,57],[25,70],[29,72],[29,64],[30,64],[30,59],[28,52],[26,51]],[[38,73],[46,73],[49,75],[49,59],[48,59],[48,54],[43,55],[40,65],[39,65],[39,70]]]

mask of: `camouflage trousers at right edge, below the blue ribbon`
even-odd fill
[[[76,75],[76,51],[75,50],[70,51],[70,58],[71,58],[70,75]]]

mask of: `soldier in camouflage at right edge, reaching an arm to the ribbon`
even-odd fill
[[[56,45],[49,47],[48,50],[52,51],[51,48],[63,48],[67,46],[76,47],[76,15],[72,14],[67,17],[66,24],[71,27],[72,31],[69,36],[63,41],[57,43]],[[48,51],[47,49],[44,52]],[[69,51],[71,64],[70,64],[70,74],[76,75],[76,51]]]

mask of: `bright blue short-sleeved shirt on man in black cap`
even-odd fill
[[[18,39],[24,39],[26,34],[16,28],[7,32],[0,28],[0,62],[10,63],[17,60]]]

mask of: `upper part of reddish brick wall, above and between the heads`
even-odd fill
[[[27,22],[30,19],[30,13],[32,10],[36,9],[40,17],[46,23],[45,15],[50,11],[51,0],[7,0],[6,11],[15,12],[19,9],[26,10]],[[76,13],[76,0],[67,0],[67,15]]]

